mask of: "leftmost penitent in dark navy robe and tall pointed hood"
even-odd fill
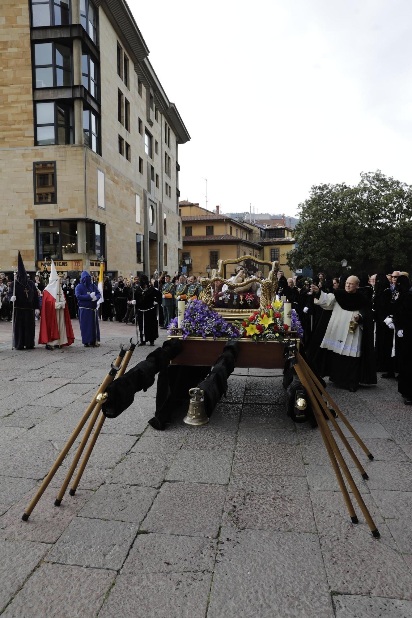
[[[13,295],[13,282],[7,292],[10,301]],[[15,281],[13,342],[16,350],[35,347],[35,309],[39,309],[37,288],[27,276],[22,256],[19,252],[19,265]]]

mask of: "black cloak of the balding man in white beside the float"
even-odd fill
[[[345,311],[359,311],[363,326],[361,340],[361,356],[347,357],[320,347],[327,324],[326,320],[319,323],[316,337],[308,358],[315,363],[322,377],[329,376],[332,382],[342,386],[357,386],[361,384],[376,384],[376,360],[374,349],[374,323],[372,320],[372,305],[369,298],[361,292],[349,294],[346,290],[335,290],[335,299]],[[320,295],[320,294],[319,294]],[[318,295],[318,296],[319,296]],[[332,315],[332,311],[328,311]],[[330,318],[329,318],[330,319]]]

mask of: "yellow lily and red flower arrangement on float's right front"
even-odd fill
[[[292,309],[291,328],[289,328],[288,324],[283,321],[283,302],[278,299],[264,310],[254,311],[246,321],[234,324],[238,326],[241,337],[250,338],[255,342],[282,342],[288,331],[297,332],[300,339],[303,337],[303,328],[296,311]]]

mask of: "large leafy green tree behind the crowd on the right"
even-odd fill
[[[311,265],[337,274],[348,260],[352,272],[409,271],[412,261],[412,187],[382,172],[361,174],[359,184],[313,186],[299,204],[292,269]]]

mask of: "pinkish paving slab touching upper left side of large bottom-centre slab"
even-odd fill
[[[212,571],[217,540],[197,536],[137,535],[121,573]]]

